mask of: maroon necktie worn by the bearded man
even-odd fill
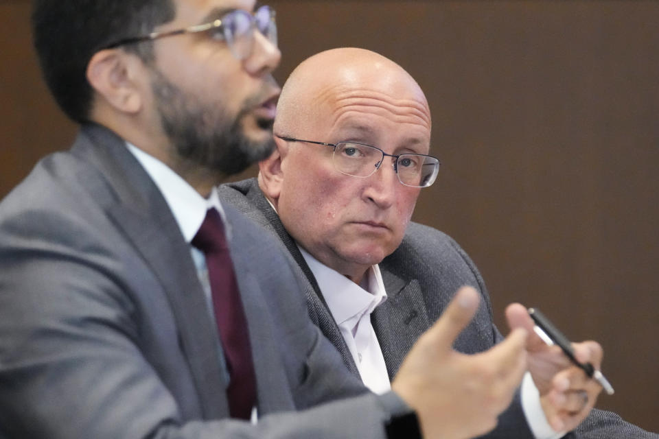
[[[192,245],[203,251],[206,257],[213,311],[231,377],[227,389],[229,412],[232,418],[249,419],[256,403],[252,351],[233,263],[224,237],[224,225],[216,209],[206,212]]]

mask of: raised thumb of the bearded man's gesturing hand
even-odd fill
[[[474,317],[480,298],[473,287],[461,287],[428,336],[439,349],[451,349],[454,340]]]

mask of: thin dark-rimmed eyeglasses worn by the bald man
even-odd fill
[[[292,137],[281,137],[279,139],[288,142],[314,143],[334,148],[332,163],[334,169],[347,176],[366,178],[372,176],[380,169],[385,156],[393,157],[393,170],[405,186],[428,187],[435,182],[439,171],[439,160],[425,154],[386,154],[371,145],[363,145],[354,142],[325,143],[310,140],[293,139]]]

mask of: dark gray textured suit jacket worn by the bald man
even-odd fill
[[[358,376],[354,360],[325,305],[311,270],[259,189],[257,181],[249,179],[222,185],[220,197],[279,237],[286,246],[307,281],[305,294],[312,320],[340,351],[347,368]],[[502,335],[492,320],[492,306],[481,274],[464,250],[448,235],[428,226],[411,223],[402,244],[380,263],[380,271],[388,298],[375,310],[371,320],[389,377],[393,378],[419,335],[439,318],[462,285],[472,285],[481,292],[481,307],[474,320],[456,340],[454,348],[463,353],[476,353],[487,350],[501,340]],[[518,399],[500,416],[497,429],[486,437],[533,437]],[[566,438],[657,439],[659,435],[626,423],[611,412],[594,410],[579,429]]]

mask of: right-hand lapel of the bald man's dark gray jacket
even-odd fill
[[[389,379],[430,322],[419,281],[409,282],[380,265],[386,300],[373,311],[371,323],[378,336]]]

